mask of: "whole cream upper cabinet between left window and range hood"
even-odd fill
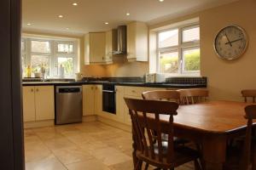
[[[106,57],[106,32],[86,34],[84,36],[84,64],[109,63],[111,63],[111,59]]]

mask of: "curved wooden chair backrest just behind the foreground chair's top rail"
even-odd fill
[[[178,103],[180,95],[177,90],[154,90],[143,92],[143,99],[176,101]]]

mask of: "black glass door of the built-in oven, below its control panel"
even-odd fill
[[[102,90],[102,111],[115,114],[115,91]]]

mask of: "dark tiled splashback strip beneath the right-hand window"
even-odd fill
[[[207,77],[169,77],[166,82],[171,84],[198,84],[207,86]]]

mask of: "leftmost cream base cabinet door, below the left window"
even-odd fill
[[[23,90],[23,121],[34,122],[36,120],[35,113],[35,94],[33,86],[26,86]]]

